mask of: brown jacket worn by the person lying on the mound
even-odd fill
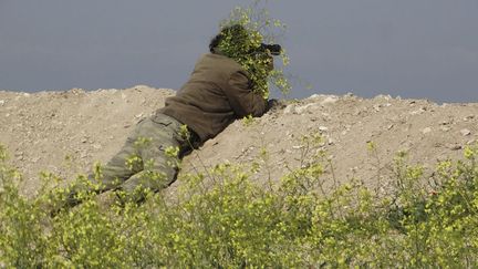
[[[215,137],[236,118],[261,116],[267,100],[252,92],[252,83],[242,66],[220,54],[204,54],[189,81],[166,100],[156,113],[186,124],[200,143]]]

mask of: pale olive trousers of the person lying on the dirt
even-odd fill
[[[144,198],[145,190],[169,186],[176,179],[180,158],[191,151],[190,133],[185,134],[181,126],[164,114],[142,120],[121,151],[97,173],[90,174],[89,180],[100,183],[97,193],[123,190],[118,193],[136,201]],[[84,186],[73,189],[77,193]],[[77,204],[74,194],[71,201]]]

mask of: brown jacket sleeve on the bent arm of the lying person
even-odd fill
[[[261,116],[267,110],[267,100],[252,91],[250,80],[241,71],[231,74],[225,93],[238,117]]]

